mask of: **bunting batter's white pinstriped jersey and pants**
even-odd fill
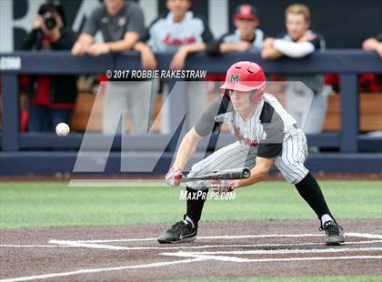
[[[275,96],[266,94],[258,104],[254,115],[244,121],[233,109],[227,96],[219,96],[206,109],[196,123],[199,136],[207,136],[226,122],[239,142],[222,147],[192,166],[188,176],[206,174],[217,169],[229,169],[256,165],[256,157],[275,158],[274,165],[292,184],[307,176],[304,166],[307,160],[307,138],[297,127]],[[190,182],[188,186],[201,189],[207,184]]]

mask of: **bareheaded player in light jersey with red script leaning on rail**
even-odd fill
[[[169,13],[166,17],[158,17],[149,26],[148,33],[143,38],[154,52],[175,53],[169,65],[172,69],[184,68],[187,55],[205,51],[206,44],[214,40],[206,22],[189,11],[191,4],[192,0],[166,0]],[[165,96],[168,92],[168,85],[165,84]],[[188,82],[186,98],[189,101],[187,102],[189,124],[194,124],[197,117],[204,111],[206,86],[199,82]],[[163,112],[165,116],[162,116],[161,132],[168,133],[169,109],[165,108]]]

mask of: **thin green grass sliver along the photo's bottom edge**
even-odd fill
[[[380,282],[382,276],[378,277],[202,277],[166,280],[166,282]]]

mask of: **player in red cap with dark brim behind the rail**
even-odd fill
[[[259,18],[255,6],[238,5],[234,14],[234,25],[236,27],[234,33],[222,35],[207,46],[208,54],[261,51],[265,35],[257,28]]]

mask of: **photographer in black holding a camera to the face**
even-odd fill
[[[65,23],[62,5],[41,5],[22,48],[70,50],[75,34],[66,29]],[[58,123],[69,124],[77,96],[76,76],[27,76],[22,82],[29,97],[28,131],[53,131]]]

